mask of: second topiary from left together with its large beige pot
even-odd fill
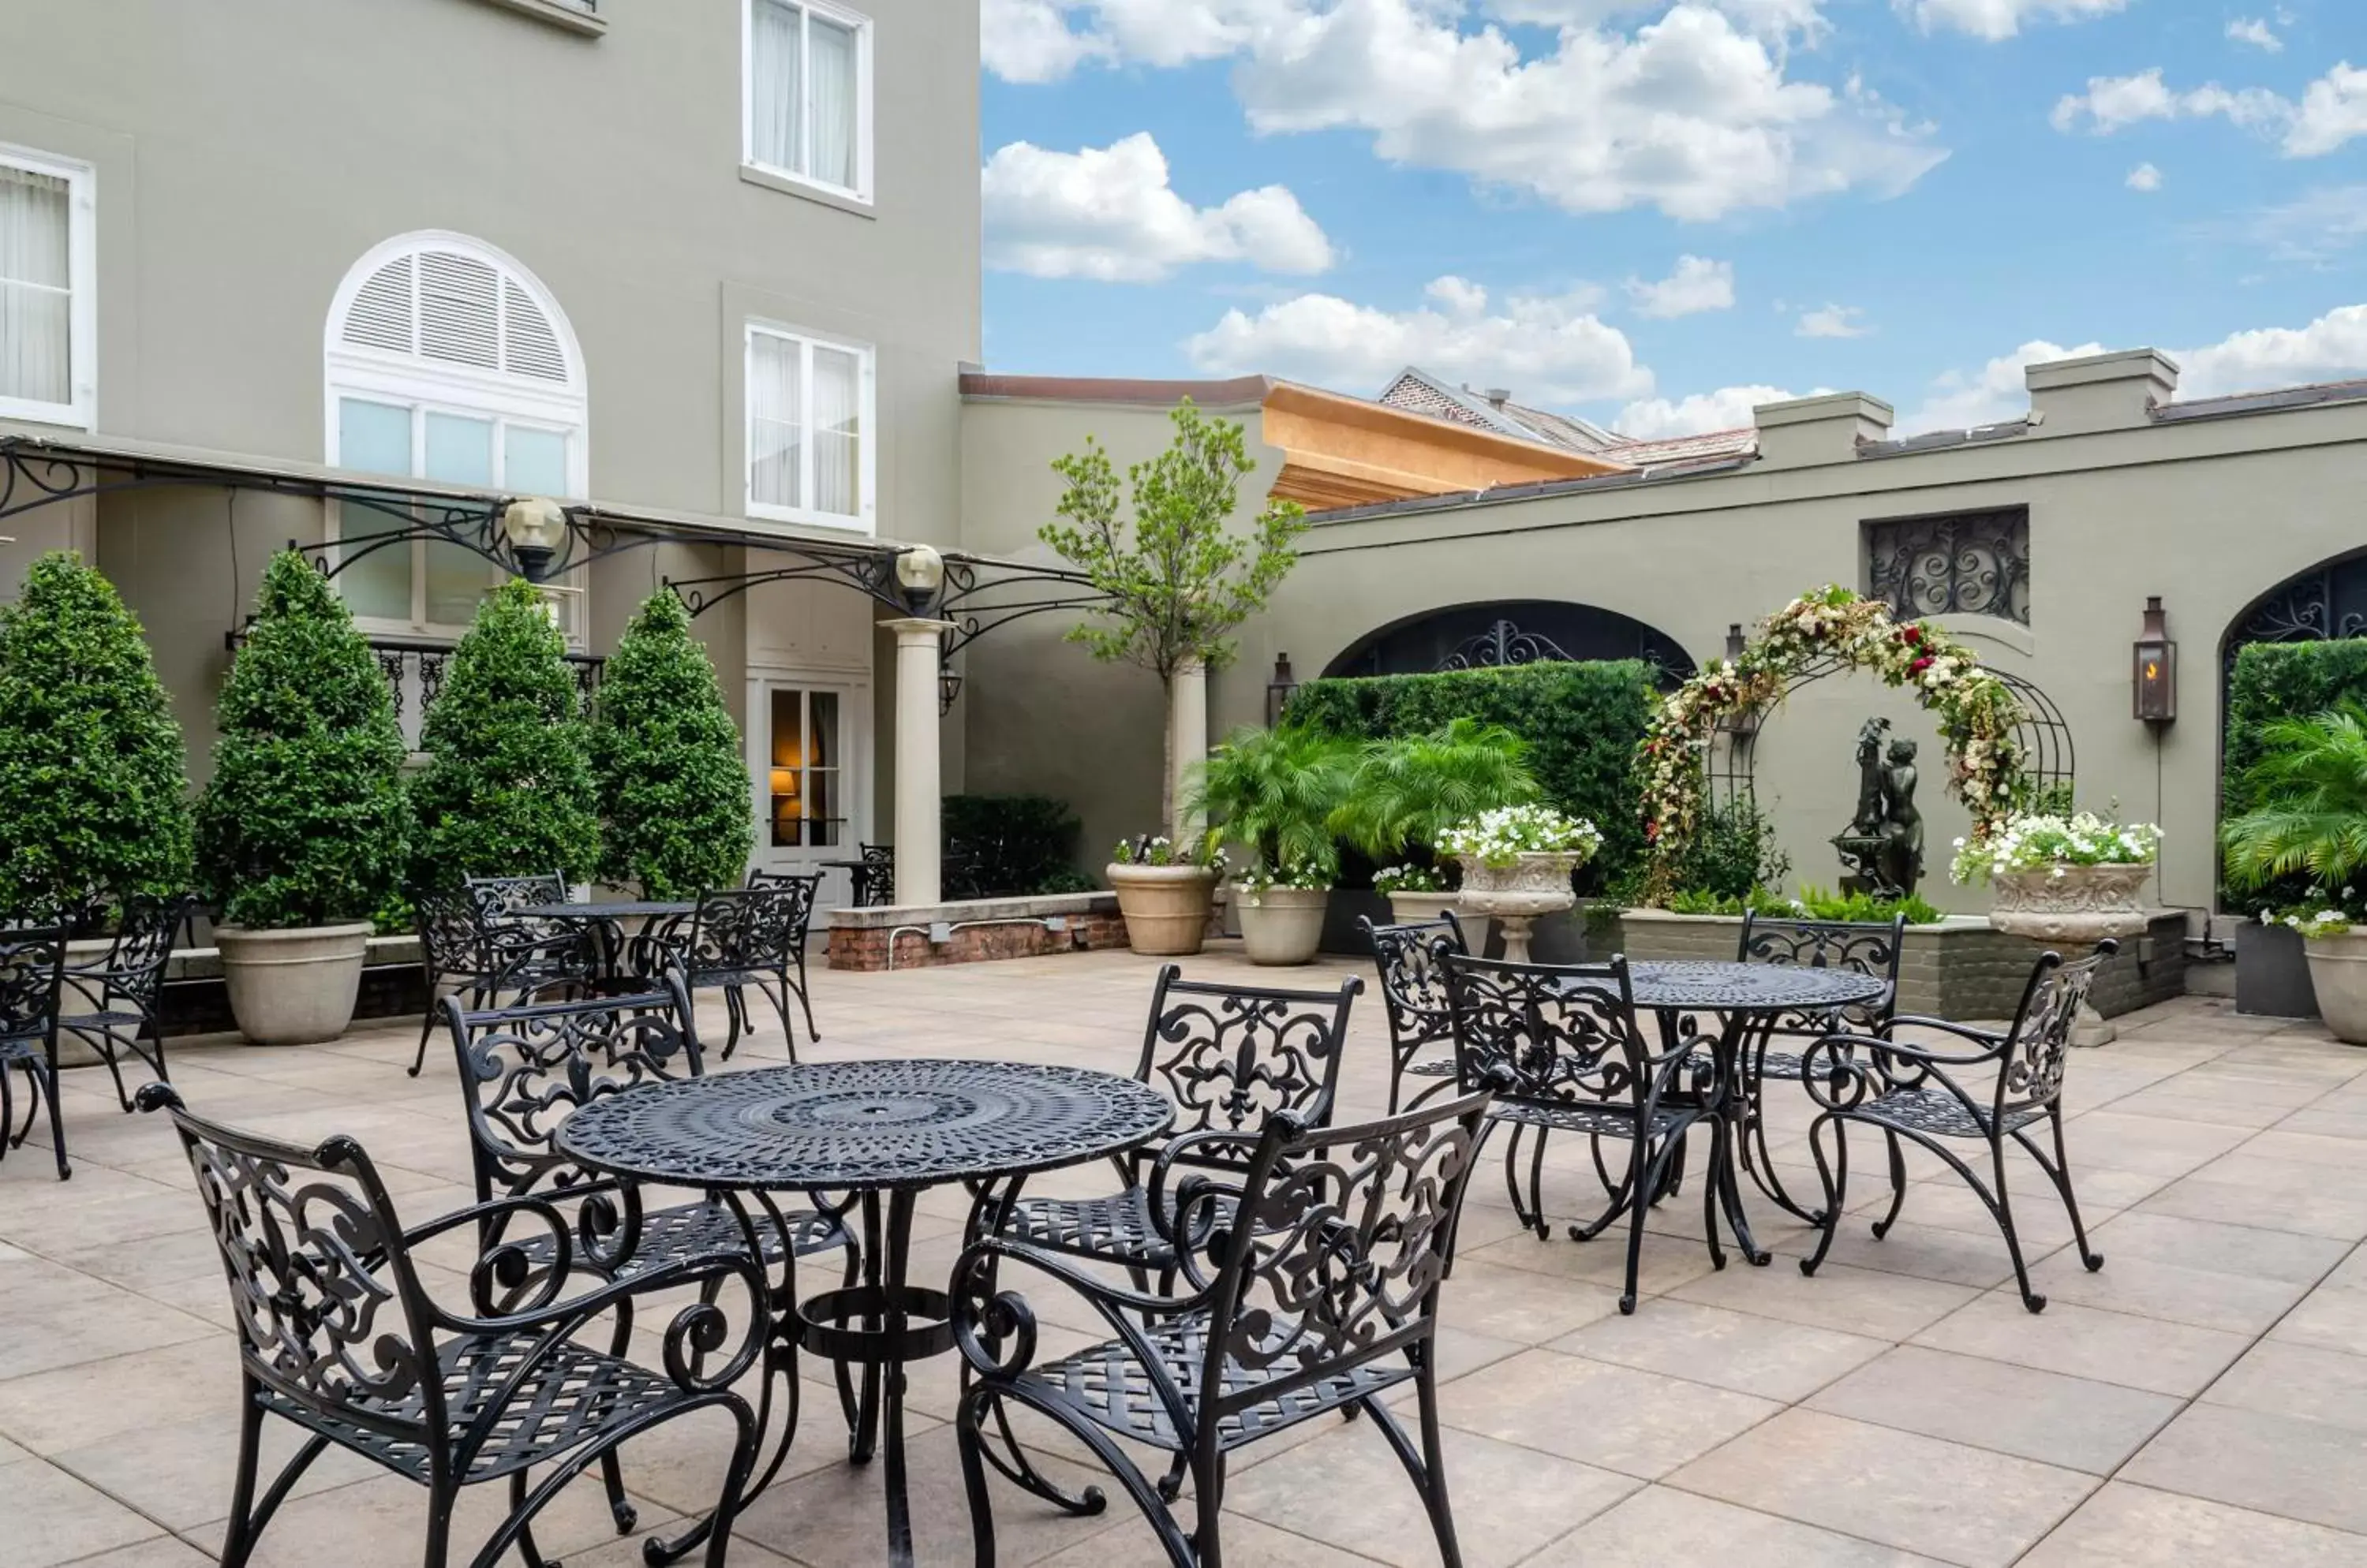
[[[334,1041],[353,1022],[372,913],[402,880],[409,811],[393,693],[301,553],[263,570],[213,714],[196,858],[230,1012],[256,1045]]]

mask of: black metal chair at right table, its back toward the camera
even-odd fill
[[[1593,1220],[1574,1223],[1569,1237],[1591,1242],[1619,1216],[1628,1216],[1619,1310],[1633,1313],[1645,1211],[1669,1190],[1685,1154],[1685,1133],[1707,1121],[1714,1138],[1726,1135],[1716,1071],[1697,1060],[1690,1038],[1671,1038],[1652,1050],[1636,1024],[1636,991],[1624,958],[1605,965],[1543,965],[1442,951],[1437,963],[1446,972],[1453,1007],[1456,1086],[1463,1093],[1494,1090],[1489,1119],[1513,1128],[1503,1152],[1513,1213],[1539,1239],[1548,1235],[1541,1194],[1546,1135],[1586,1135],[1610,1204]],[[1527,1133],[1536,1133],[1536,1142],[1522,1199],[1520,1145]],[[1626,1145],[1624,1173],[1612,1175],[1602,1161],[1602,1140]],[[1718,1154],[1723,1149],[1714,1152]],[[1709,1256],[1723,1268],[1716,1183],[1704,1187]]]

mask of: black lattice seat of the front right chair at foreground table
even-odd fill
[[[1186,1313],[1160,1322],[1146,1334],[1167,1376],[1181,1388],[1202,1386],[1207,1369],[1207,1313]],[[1226,1414],[1217,1421],[1217,1445],[1231,1450],[1257,1438],[1269,1438],[1285,1426],[1297,1426],[1307,1417],[1370,1398],[1411,1376],[1413,1367],[1401,1358],[1363,1362]],[[1247,1393],[1259,1384],[1281,1381],[1273,1369],[1243,1367],[1231,1355],[1224,1360],[1221,1379],[1226,1398]],[[1030,1386],[1030,1393],[1063,1402],[1122,1438],[1150,1443],[1169,1452],[1181,1443],[1174,1421],[1167,1417],[1167,1407],[1150,1391],[1150,1374],[1143,1369],[1141,1358],[1120,1339],[1063,1355],[1023,1374],[1020,1381]]]

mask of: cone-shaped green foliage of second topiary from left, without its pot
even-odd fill
[[[222,922],[372,920],[402,885],[409,847],[402,731],[346,601],[298,551],[263,570],[213,719],[196,861]]]

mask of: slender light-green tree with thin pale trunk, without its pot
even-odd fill
[[[1307,511],[1297,501],[1266,501],[1247,532],[1231,532],[1226,523],[1240,480],[1257,468],[1240,426],[1202,416],[1191,397],[1169,419],[1174,442],[1148,464],[1127,468],[1131,525],[1117,516],[1110,454],[1086,438],[1082,454],[1053,464],[1068,480],[1058,506],[1065,523],[1046,523],[1039,537],[1110,601],[1070,629],[1070,641],[1084,643],[1096,660],[1153,672],[1172,707],[1176,669],[1188,662],[1221,669],[1233,660],[1233,629],[1262,610],[1297,565],[1292,542],[1307,532]],[[1169,747],[1172,738],[1169,714]],[[1169,754],[1160,816],[1181,842],[1176,804]]]

